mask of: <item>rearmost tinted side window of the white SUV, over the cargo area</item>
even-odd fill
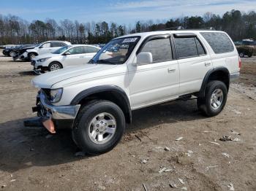
[[[214,32],[203,32],[200,34],[202,34],[216,54],[233,52],[234,47],[227,34]]]

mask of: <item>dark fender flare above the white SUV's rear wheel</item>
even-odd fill
[[[225,74],[227,74],[227,77],[228,77],[227,91],[228,91],[229,84],[230,84],[230,71],[228,71],[228,69],[225,68],[225,67],[217,67],[217,68],[210,69],[209,71],[207,71],[206,76],[203,78],[203,82],[202,82],[202,85],[201,85],[201,88],[200,88],[200,91],[199,91],[199,95],[198,95],[199,98],[203,98],[205,96],[206,85],[207,85],[208,79],[211,76],[211,74],[213,74],[216,71],[223,71]]]

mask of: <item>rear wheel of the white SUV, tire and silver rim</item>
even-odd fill
[[[203,114],[212,117],[224,108],[227,101],[227,86],[221,81],[211,81],[206,85],[204,98],[197,98],[197,106]]]

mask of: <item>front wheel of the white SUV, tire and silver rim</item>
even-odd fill
[[[89,155],[108,152],[118,144],[125,130],[124,113],[110,101],[91,101],[75,119],[72,137]]]

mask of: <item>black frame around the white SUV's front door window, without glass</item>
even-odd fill
[[[176,53],[174,52],[175,47],[173,46],[173,40],[172,40],[172,36],[170,34],[156,34],[156,35],[151,35],[151,36],[146,37],[146,39],[144,39],[143,42],[141,42],[140,47],[138,48],[138,50],[136,52],[136,56],[141,52],[141,50],[143,50],[143,47],[148,42],[150,42],[152,40],[156,40],[156,39],[169,39],[169,41],[170,41],[170,51],[172,53],[172,59],[167,60],[167,61],[160,61],[160,62],[157,61],[157,62],[152,62],[152,63],[165,63],[165,62],[176,60]],[[148,64],[152,64],[152,63],[148,63]]]

